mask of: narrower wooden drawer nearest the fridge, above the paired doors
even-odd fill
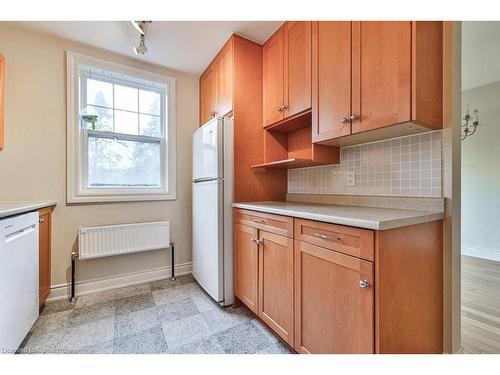
[[[267,232],[293,237],[293,219],[291,217],[236,209],[234,210],[234,221]]]

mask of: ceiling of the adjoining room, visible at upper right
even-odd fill
[[[500,80],[500,22],[462,23],[462,90]]]

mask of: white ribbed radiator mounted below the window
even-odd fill
[[[79,259],[166,249],[170,247],[170,221],[80,227],[78,246]]]

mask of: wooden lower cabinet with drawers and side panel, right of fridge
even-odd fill
[[[236,209],[234,221],[236,297],[296,352],[443,352],[442,220],[374,231]]]

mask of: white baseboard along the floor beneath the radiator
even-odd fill
[[[175,275],[181,276],[192,272],[192,263],[182,263],[175,265]],[[151,281],[169,278],[172,274],[172,267],[160,267],[141,272],[120,274],[99,279],[77,281],[76,296],[101,292],[108,289],[121,288],[125,286],[148,283]],[[70,297],[71,283],[53,285],[47,301],[56,301]]]

